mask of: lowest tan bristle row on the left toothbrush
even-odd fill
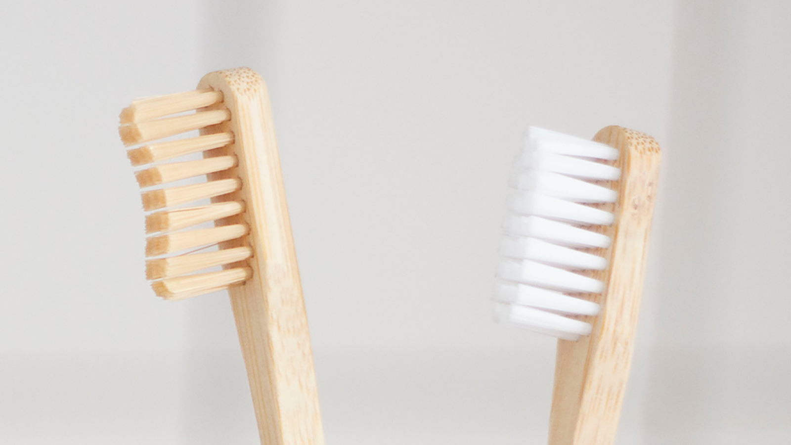
[[[233,268],[220,272],[165,278],[151,283],[151,287],[164,299],[185,299],[244,283],[251,276],[251,268]]]

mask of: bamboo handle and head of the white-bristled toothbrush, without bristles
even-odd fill
[[[648,253],[660,149],[651,136],[623,127],[606,127],[593,138],[621,151],[619,199],[611,206],[615,224],[602,227],[612,238],[603,295],[591,295],[601,313],[587,321],[590,337],[558,340],[550,415],[550,445],[611,445],[615,440],[623,394],[634,349]]]

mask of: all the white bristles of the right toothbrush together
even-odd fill
[[[620,169],[606,163],[618,158],[619,150],[602,143],[536,127],[525,133],[503,222],[494,292],[498,321],[565,340],[591,333],[589,322],[569,316],[593,316],[600,306],[564,292],[604,291],[602,281],[581,272],[607,268],[601,249],[611,239],[578,226],[615,222],[610,211],[586,204],[618,200],[615,184],[592,182],[619,180]],[[591,248],[600,250],[580,250]]]

